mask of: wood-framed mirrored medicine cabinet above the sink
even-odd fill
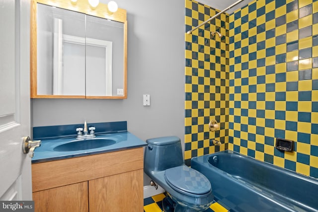
[[[32,0],[30,31],[31,98],[127,98],[125,9]]]

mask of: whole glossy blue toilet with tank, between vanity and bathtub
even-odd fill
[[[213,202],[209,180],[184,164],[178,137],[148,139],[144,171],[167,193],[164,212],[203,212]]]

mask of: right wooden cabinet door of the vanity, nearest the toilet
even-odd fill
[[[88,181],[89,212],[143,212],[143,169]]]

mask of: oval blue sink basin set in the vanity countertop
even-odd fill
[[[53,148],[54,151],[78,151],[85,149],[100,148],[116,143],[110,139],[86,139],[63,143]]]

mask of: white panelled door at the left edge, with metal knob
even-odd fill
[[[30,0],[0,0],[0,200],[32,200]]]

